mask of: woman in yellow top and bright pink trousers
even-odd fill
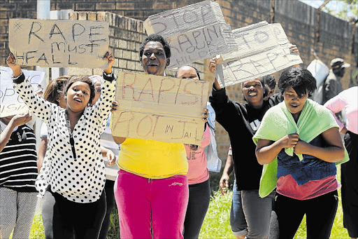
[[[171,48],[162,36],[152,34],[141,44],[139,55],[146,74],[164,76]],[[113,139],[122,144],[115,182],[121,238],[182,238],[188,201],[184,145]]]

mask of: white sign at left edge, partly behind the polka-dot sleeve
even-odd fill
[[[45,72],[22,70],[36,91],[43,81]],[[13,71],[10,67],[0,67],[0,117],[27,112],[28,108],[13,88]]]

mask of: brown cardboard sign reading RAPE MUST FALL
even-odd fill
[[[9,48],[17,64],[103,69],[108,32],[101,21],[10,19]]]

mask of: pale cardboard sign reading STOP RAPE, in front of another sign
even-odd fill
[[[298,54],[289,51],[289,43],[281,25],[258,22],[232,31],[238,50],[222,54],[222,64],[215,75],[220,86],[272,74],[302,63]]]

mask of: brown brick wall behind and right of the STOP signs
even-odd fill
[[[271,1],[217,0],[217,2],[231,29],[245,27],[262,20],[270,22]],[[357,80],[351,77],[352,71],[358,67],[358,27],[355,31],[355,52],[352,53],[352,25],[327,13],[321,13],[320,42],[317,43],[315,42],[316,10],[301,1],[276,0],[274,19],[274,22],[281,23],[289,41],[299,47],[303,60],[302,67],[307,67],[315,59],[310,48],[315,50],[320,60],[327,66],[333,58],[342,57],[352,65],[342,79],[343,88],[358,85]],[[206,74],[208,74],[207,70]],[[273,75],[277,81],[280,72]],[[227,92],[231,99],[243,102],[240,84],[229,86]],[[229,136],[218,123],[216,128],[219,157],[227,158]]]

